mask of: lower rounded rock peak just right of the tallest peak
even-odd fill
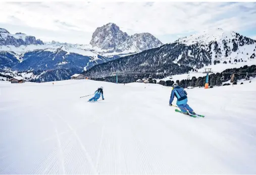
[[[163,43],[150,33],[136,33],[131,36],[139,50],[160,47]]]

